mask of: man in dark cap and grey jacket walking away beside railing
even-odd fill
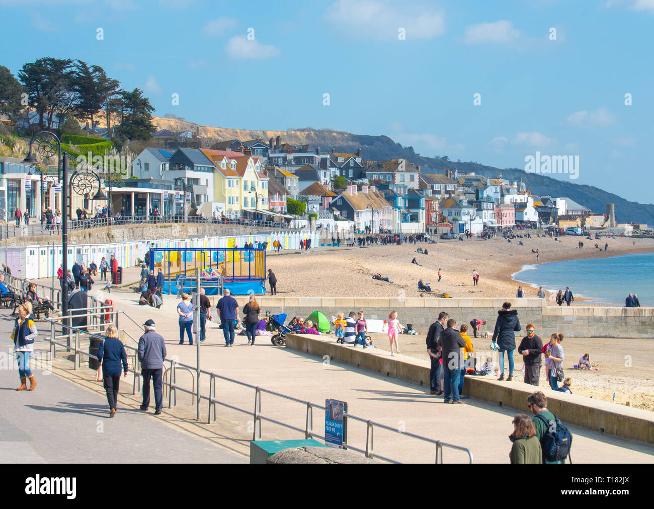
[[[148,410],[150,406],[150,377],[154,385],[154,414],[162,413],[162,371],[165,359],[165,342],[160,334],[154,332],[154,321],[148,320],[145,324],[145,334],[139,338],[139,362],[141,362],[141,375],[143,375],[143,404],[141,410]]]

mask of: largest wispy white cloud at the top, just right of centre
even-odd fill
[[[398,40],[400,28],[407,41],[431,39],[445,32],[443,13],[411,1],[338,0],[325,18],[349,34],[373,39]]]

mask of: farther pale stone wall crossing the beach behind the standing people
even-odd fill
[[[237,297],[242,305],[247,297]],[[411,323],[423,334],[446,311],[456,323],[468,323],[473,318],[485,320],[483,330],[492,332],[497,311],[504,299],[498,298],[341,298],[341,297],[260,297],[258,302],[271,313],[287,313],[290,317],[306,318],[321,311],[331,319],[339,311],[364,311],[368,319],[387,319],[391,309],[398,311],[400,323]],[[654,338],[654,307],[591,307],[546,306],[538,298],[509,299],[517,309],[525,330],[533,323],[544,338],[553,332],[577,338]]]

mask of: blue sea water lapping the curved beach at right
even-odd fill
[[[570,287],[573,295],[583,296],[589,304],[624,306],[628,294],[636,293],[641,306],[651,307],[653,276],[654,253],[645,253],[525,265],[513,279],[551,292]]]

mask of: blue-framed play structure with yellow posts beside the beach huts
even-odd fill
[[[266,250],[258,247],[150,247],[150,270],[163,272],[163,293],[190,293],[196,270],[207,295],[265,294]]]

